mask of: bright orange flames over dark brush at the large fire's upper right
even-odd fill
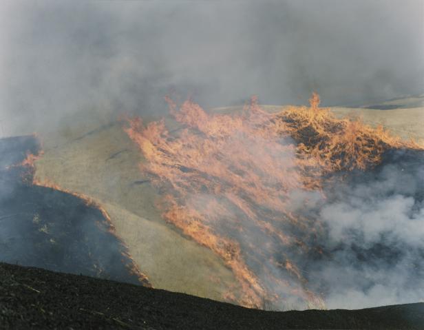
[[[403,142],[383,126],[372,128],[361,119],[336,119],[330,109],[319,108],[319,96],[312,94],[310,107],[289,107],[277,115],[287,123],[288,132],[299,143],[301,156],[312,159],[324,170],[362,169],[377,165],[388,149],[422,149],[414,141]]]

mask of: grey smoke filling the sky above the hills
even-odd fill
[[[10,1],[3,135],[204,107],[367,103],[423,92],[423,1]],[[109,118],[110,119],[110,118]]]

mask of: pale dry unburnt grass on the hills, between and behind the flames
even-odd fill
[[[382,124],[402,138],[424,142],[424,107],[407,107],[422,99],[397,100],[402,105],[399,109],[335,107],[333,111],[339,117],[360,116],[365,123]],[[278,112],[282,106],[264,105],[264,109]],[[241,110],[221,107],[210,111]],[[82,122],[84,125],[80,125]],[[166,123],[170,130],[178,127],[170,117]],[[140,174],[142,156],[122,125],[107,118],[87,118],[41,134],[44,155],[36,162],[36,177],[102,204],[112,218],[116,235],[125,241],[153,287],[222,300],[222,294],[236,285],[233,274],[212,251],[162,220],[155,207],[160,192]]]

